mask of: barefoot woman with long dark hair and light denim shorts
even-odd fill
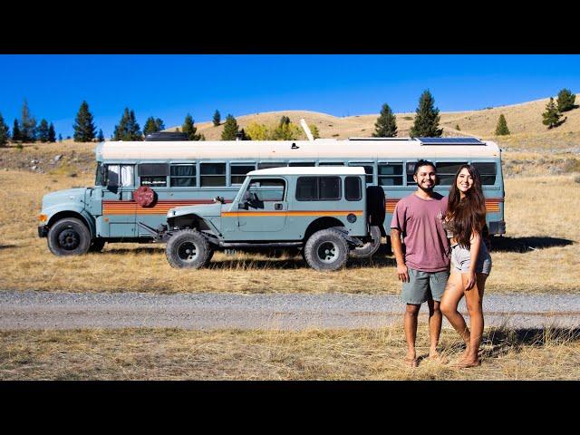
[[[449,189],[447,214],[443,222],[451,246],[451,270],[440,310],[465,342],[465,352],[456,367],[479,365],[479,343],[483,334],[482,300],[491,257],[484,243],[487,235],[486,203],[478,170],[463,165]],[[469,312],[471,331],[457,310],[461,297]]]

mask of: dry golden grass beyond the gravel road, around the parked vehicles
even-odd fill
[[[580,227],[574,175],[506,180],[507,239],[492,252],[487,291],[577,293]],[[302,258],[218,253],[211,267],[172,269],[162,245],[108,244],[103,253],[57,257],[37,236],[43,194],[92,183],[82,174],[0,171],[0,288],[47,291],[155,291],[243,293],[398,294],[392,256],[372,264],[353,262],[335,273],[319,273]],[[536,248],[536,250],[529,247]],[[543,247],[543,248],[540,248]]]

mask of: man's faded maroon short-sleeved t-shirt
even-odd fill
[[[392,213],[391,228],[401,231],[405,264],[423,272],[449,268],[449,240],[443,228],[447,197],[438,193],[421,199],[414,193],[401,198]]]

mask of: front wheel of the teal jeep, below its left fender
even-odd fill
[[[171,267],[193,268],[208,266],[213,252],[206,237],[195,229],[183,229],[169,237],[165,256]]]

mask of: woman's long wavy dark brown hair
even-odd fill
[[[459,189],[457,189],[457,179],[463,169],[468,169],[469,175],[473,179],[473,186],[461,199]],[[486,226],[486,200],[481,189],[481,177],[478,169],[471,165],[462,165],[455,174],[453,184],[449,189],[449,202],[447,205],[447,218],[453,220],[453,237],[461,247],[470,247],[469,239],[472,232],[478,232],[482,238],[485,234]]]

